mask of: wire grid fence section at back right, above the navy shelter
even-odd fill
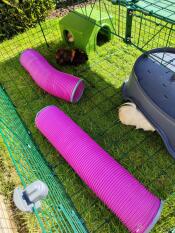
[[[89,20],[93,10],[96,9],[99,12],[99,19],[101,19],[102,12],[106,12],[113,19],[111,20],[113,28],[111,33],[125,42],[131,43],[142,52],[158,47],[175,46],[175,19],[174,21],[172,18],[170,20],[169,15],[175,11],[173,1],[126,1],[124,6],[123,2],[118,1],[117,3],[117,5],[112,5],[110,1],[106,0],[93,1],[90,13],[87,13],[86,5],[81,7],[82,17],[86,16]],[[89,6],[88,3],[87,6]],[[138,6],[142,6],[142,8]],[[168,9],[170,13],[165,19],[165,17],[158,17],[154,14],[155,9],[157,9],[157,13],[158,9],[161,12],[164,9],[163,16],[167,15]],[[99,20],[99,24],[96,24],[99,27],[102,26],[100,22],[101,20]]]

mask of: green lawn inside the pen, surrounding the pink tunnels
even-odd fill
[[[115,38],[89,55],[81,67],[59,67],[55,51],[61,46],[58,19],[42,24],[49,49],[39,27],[0,44],[0,82],[6,88],[21,118],[31,130],[46,160],[53,166],[90,232],[127,232],[101,201],[86,187],[68,164],[34,126],[37,112],[47,106],[63,109],[111,156],[128,169],[165,204],[161,220],[153,232],[168,232],[174,225],[175,161],[167,153],[156,133],[147,133],[121,125],[117,110],[123,103],[121,85],[128,78],[140,52]],[[44,93],[19,64],[19,54],[33,47],[58,69],[85,80],[86,90],[78,104],[69,104]],[[27,171],[28,172],[28,171]]]

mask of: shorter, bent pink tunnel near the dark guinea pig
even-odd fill
[[[84,82],[52,67],[36,50],[27,49],[20,56],[21,65],[38,86],[49,94],[69,102],[78,102],[84,91]]]

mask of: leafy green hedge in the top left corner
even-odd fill
[[[0,41],[10,39],[44,20],[54,1],[47,0],[1,0],[0,1]]]

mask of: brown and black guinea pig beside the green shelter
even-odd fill
[[[88,56],[80,49],[60,48],[56,52],[56,61],[59,65],[78,66],[86,63]]]

